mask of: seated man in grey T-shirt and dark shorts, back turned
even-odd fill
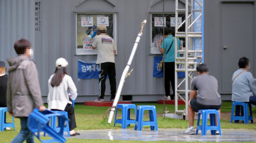
[[[214,76],[209,75],[207,66],[201,63],[197,66],[197,76],[195,76],[191,84],[190,100],[187,108],[189,127],[185,134],[195,134],[195,112],[198,112],[200,109],[217,109],[220,116],[221,105],[218,81]]]

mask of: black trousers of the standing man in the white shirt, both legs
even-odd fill
[[[106,62],[99,64],[99,98],[104,99],[106,78],[109,75],[111,85],[111,99],[116,97],[116,66],[115,63]]]

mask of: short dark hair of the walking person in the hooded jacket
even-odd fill
[[[30,48],[30,47],[31,47],[31,44],[26,39],[20,39],[14,43],[14,50],[17,54],[24,54],[26,52],[26,48]]]

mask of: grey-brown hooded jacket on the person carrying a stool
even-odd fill
[[[27,117],[43,105],[35,63],[25,55],[7,59],[7,108],[14,117]]]

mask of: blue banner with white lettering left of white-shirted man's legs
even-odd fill
[[[79,60],[77,76],[80,79],[99,78],[99,65],[96,65],[96,61],[82,62]]]

